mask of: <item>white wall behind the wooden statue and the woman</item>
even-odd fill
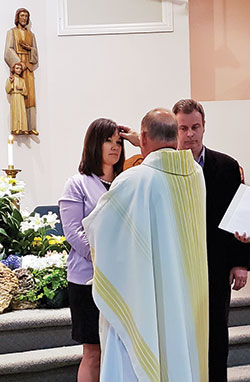
[[[57,1],[1,3],[0,166],[7,166],[9,75],[3,59],[6,32],[17,8],[31,13],[39,49],[35,72],[38,138],[17,137],[15,167],[26,182],[22,207],[54,204],[66,179],[77,172],[86,128],[95,118],[112,118],[139,129],[157,106],[172,107],[190,95],[188,12],[174,5],[174,33],[57,36]],[[127,147],[127,156],[138,152]]]

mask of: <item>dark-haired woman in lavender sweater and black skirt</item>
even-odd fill
[[[95,120],[85,136],[79,174],[68,179],[59,200],[64,234],[71,244],[67,273],[72,338],[84,345],[78,382],[99,381],[100,370],[99,311],[88,285],[93,277],[93,266],[82,219],[109,189],[122,171],[123,163],[124,147],[118,126],[109,119]]]

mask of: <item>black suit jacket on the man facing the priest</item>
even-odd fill
[[[240,185],[239,164],[226,154],[205,148],[203,167],[207,203],[207,251],[211,279],[227,280],[230,269],[248,266],[249,246],[218,228]],[[219,283],[220,284],[220,283]],[[219,293],[219,291],[218,291]]]

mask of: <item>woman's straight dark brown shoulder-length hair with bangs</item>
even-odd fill
[[[111,119],[99,118],[93,121],[85,135],[82,159],[79,165],[80,174],[102,176],[102,145],[115,133],[119,131],[117,124]],[[122,151],[119,161],[114,165],[114,173],[120,174],[123,169],[125,159],[124,145],[122,141]]]

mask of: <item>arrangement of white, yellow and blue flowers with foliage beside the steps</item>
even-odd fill
[[[70,245],[64,236],[51,233],[59,222],[56,214],[19,211],[16,202],[23,193],[23,182],[0,177],[0,260],[22,281],[26,277],[29,286],[22,283],[11,306],[66,306]]]

